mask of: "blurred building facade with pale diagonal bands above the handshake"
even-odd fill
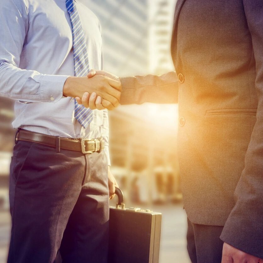
[[[148,71],[148,0],[81,0],[102,26],[104,70],[115,75]]]

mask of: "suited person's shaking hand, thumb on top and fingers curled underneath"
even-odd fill
[[[104,71],[104,70],[90,70],[90,72],[88,73],[87,77],[88,78],[92,78],[94,77],[95,75],[101,75],[101,76],[106,76],[114,81],[118,81],[119,85],[120,85],[120,89],[119,91],[121,92],[121,82],[120,82],[120,78],[107,72],[107,71]],[[84,97],[80,98],[80,97],[77,97],[76,98],[76,101],[79,103],[79,104],[83,104],[85,105],[85,107],[89,107],[90,109],[108,109],[109,106],[109,101],[107,100],[106,97],[101,97],[99,94],[97,93],[92,93],[91,96],[89,96],[89,94],[85,94]]]

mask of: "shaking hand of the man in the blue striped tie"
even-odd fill
[[[107,101],[104,104],[106,109],[114,109],[119,105],[120,89],[120,82],[107,76],[96,75],[92,78],[70,76],[64,83],[63,95],[65,97],[83,98],[83,105],[88,107],[89,94],[98,94]]]

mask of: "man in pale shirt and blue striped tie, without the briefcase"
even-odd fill
[[[99,21],[75,0],[5,0],[0,17],[0,96],[15,100],[18,129],[8,262],[54,262],[59,250],[63,262],[107,262],[108,114],[75,100],[119,104],[118,80],[86,77],[102,69]]]

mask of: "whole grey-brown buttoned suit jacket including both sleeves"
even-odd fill
[[[263,258],[263,1],[178,0],[171,53],[177,74],[121,78],[121,104],[178,100],[187,216]]]

